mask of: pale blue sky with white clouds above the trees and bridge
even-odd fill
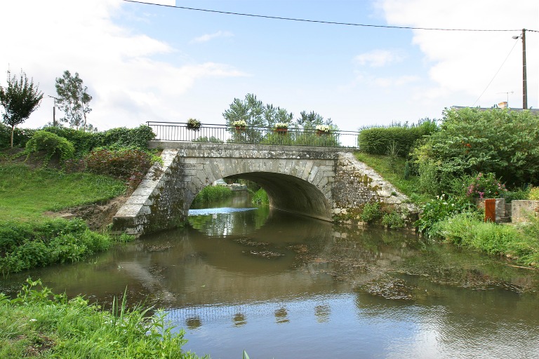
[[[0,86],[22,70],[44,93],[20,125],[51,123],[55,79],[79,74],[99,130],[225,123],[234,98],[315,111],[341,130],[441,119],[451,106],[522,107],[521,29],[536,0],[26,0],[0,4]],[[184,8],[178,8],[182,6]],[[363,25],[508,32],[434,31]],[[6,36],[7,34],[7,36]],[[528,107],[539,107],[539,32],[526,32]],[[4,74],[4,75],[2,75]],[[56,111],[57,119],[62,116]]]

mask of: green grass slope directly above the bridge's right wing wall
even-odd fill
[[[422,203],[432,199],[432,196],[422,193],[419,188],[419,177],[410,176],[404,179],[404,165],[406,160],[401,157],[382,156],[356,152],[358,161],[366,163],[384,179],[389,181],[403,194],[406,194],[412,202]]]

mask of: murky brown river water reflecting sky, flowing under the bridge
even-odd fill
[[[193,209],[182,229],[84,262],[16,273],[107,305],[163,308],[211,358],[538,358],[539,273],[427,244],[252,208]]]

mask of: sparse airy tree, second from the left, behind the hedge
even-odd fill
[[[75,72],[72,76],[68,70],[65,70],[62,77],[56,78],[56,93],[58,93],[58,108],[62,110],[65,117],[60,118],[60,121],[69,123],[69,126],[86,130],[89,129],[86,124],[86,114],[92,109],[89,103],[92,100],[91,95],[88,95],[88,88],[83,87],[82,79],[79,73]]]

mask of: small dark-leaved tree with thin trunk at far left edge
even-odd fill
[[[8,86],[0,86],[0,104],[4,107],[2,114],[4,123],[11,126],[11,147],[13,148],[13,132],[15,126],[26,121],[32,112],[39,107],[43,93],[34,86],[34,79],[28,78],[24,72],[20,72],[20,79],[8,71]]]

